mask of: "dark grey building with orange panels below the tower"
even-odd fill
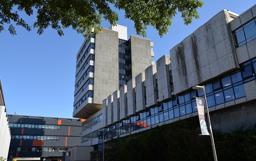
[[[81,144],[84,120],[24,115],[8,115],[8,119],[12,133],[8,157],[60,161],[63,152]]]

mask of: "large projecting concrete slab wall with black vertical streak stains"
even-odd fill
[[[238,69],[228,11],[220,11],[170,50],[174,94]]]

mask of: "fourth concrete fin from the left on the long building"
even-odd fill
[[[127,86],[124,85],[120,88],[120,119],[127,118]]]

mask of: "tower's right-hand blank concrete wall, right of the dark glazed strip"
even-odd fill
[[[132,59],[132,78],[139,73],[144,73],[145,69],[152,64],[150,40],[137,36],[131,39],[131,59]]]

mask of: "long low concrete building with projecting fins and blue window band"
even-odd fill
[[[103,99],[83,122],[81,145],[197,118],[193,90],[204,85],[212,128],[230,131],[256,122],[256,5],[241,15],[223,10]]]

